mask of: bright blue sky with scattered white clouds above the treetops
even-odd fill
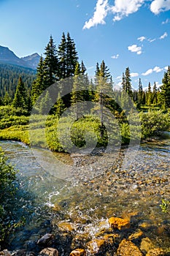
[[[170,65],[170,0],[0,0],[0,45],[17,56],[45,52],[69,31],[89,75],[104,60],[115,85],[162,83]]]

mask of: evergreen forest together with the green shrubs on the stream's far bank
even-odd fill
[[[32,110],[36,116],[34,145],[53,151],[70,149],[69,145],[61,145],[58,139],[58,136],[61,136],[59,134],[63,134],[62,140],[68,138],[64,127],[69,125],[69,115],[74,116],[72,142],[80,148],[85,146],[85,133],[88,132],[88,140],[94,140],[91,127],[97,135],[98,146],[106,146],[109,137],[111,140],[119,140],[116,132],[111,132],[111,135],[107,132],[104,116],[108,115],[110,118],[107,122],[111,127],[115,125],[112,124],[112,116],[115,116],[123,144],[139,137],[160,135],[162,131],[169,129],[170,67],[163,75],[161,88],[157,88],[156,83],[149,83],[147,90],[144,90],[139,78],[138,89],[133,89],[131,71],[127,67],[122,75],[122,86],[117,89],[104,60],[101,64],[96,63],[94,78],[90,80],[84,62],[79,61],[74,39],[69,33],[63,33],[58,46],[50,36],[45,47],[45,57],[41,56],[36,74],[31,69],[9,66],[6,68],[1,65],[0,79],[1,139],[21,140],[30,145],[28,129],[32,128],[28,127],[28,124]],[[53,84],[55,93],[48,90]],[[91,102],[93,108],[89,104],[85,107],[85,102]],[[66,116],[68,108],[73,110]],[[133,109],[136,110],[134,116],[130,115]],[[129,128],[128,116],[136,120],[137,114],[142,135],[139,135],[138,131],[132,135]],[[59,120],[62,124],[56,135]],[[42,141],[43,122],[46,125],[47,141]]]

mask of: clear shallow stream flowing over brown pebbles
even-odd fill
[[[21,204],[26,225],[9,237],[9,249],[26,248],[62,221],[79,223],[77,233],[93,238],[98,222],[136,216],[132,233],[144,231],[155,246],[170,252],[170,136],[142,143],[133,162],[122,166],[126,149],[100,154],[56,154],[15,141],[1,141],[28,198]],[[133,154],[133,151],[132,151]],[[88,230],[88,231],[87,231]]]

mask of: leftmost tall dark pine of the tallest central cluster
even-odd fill
[[[44,90],[51,86],[58,80],[58,56],[53,37],[50,36],[50,41],[45,48],[45,60],[44,60]]]

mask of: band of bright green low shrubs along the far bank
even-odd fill
[[[152,111],[139,113],[140,120],[120,116],[111,120],[102,132],[95,116],[85,116],[78,121],[71,117],[56,116],[8,116],[0,120],[0,140],[16,140],[29,146],[47,148],[56,152],[75,151],[75,148],[115,147],[138,143],[140,140],[158,138],[170,129],[169,113]],[[138,117],[138,118],[139,118]]]

